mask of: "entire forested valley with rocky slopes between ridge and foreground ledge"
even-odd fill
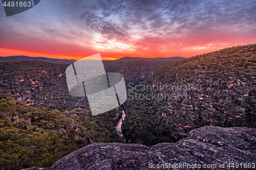
[[[203,126],[256,127],[256,44],[187,59],[124,57],[103,64],[106,72],[124,76],[124,115],[118,108],[92,116],[86,98],[69,94],[70,64],[0,62],[0,158],[6,169],[49,167],[90,143],[151,147]]]

